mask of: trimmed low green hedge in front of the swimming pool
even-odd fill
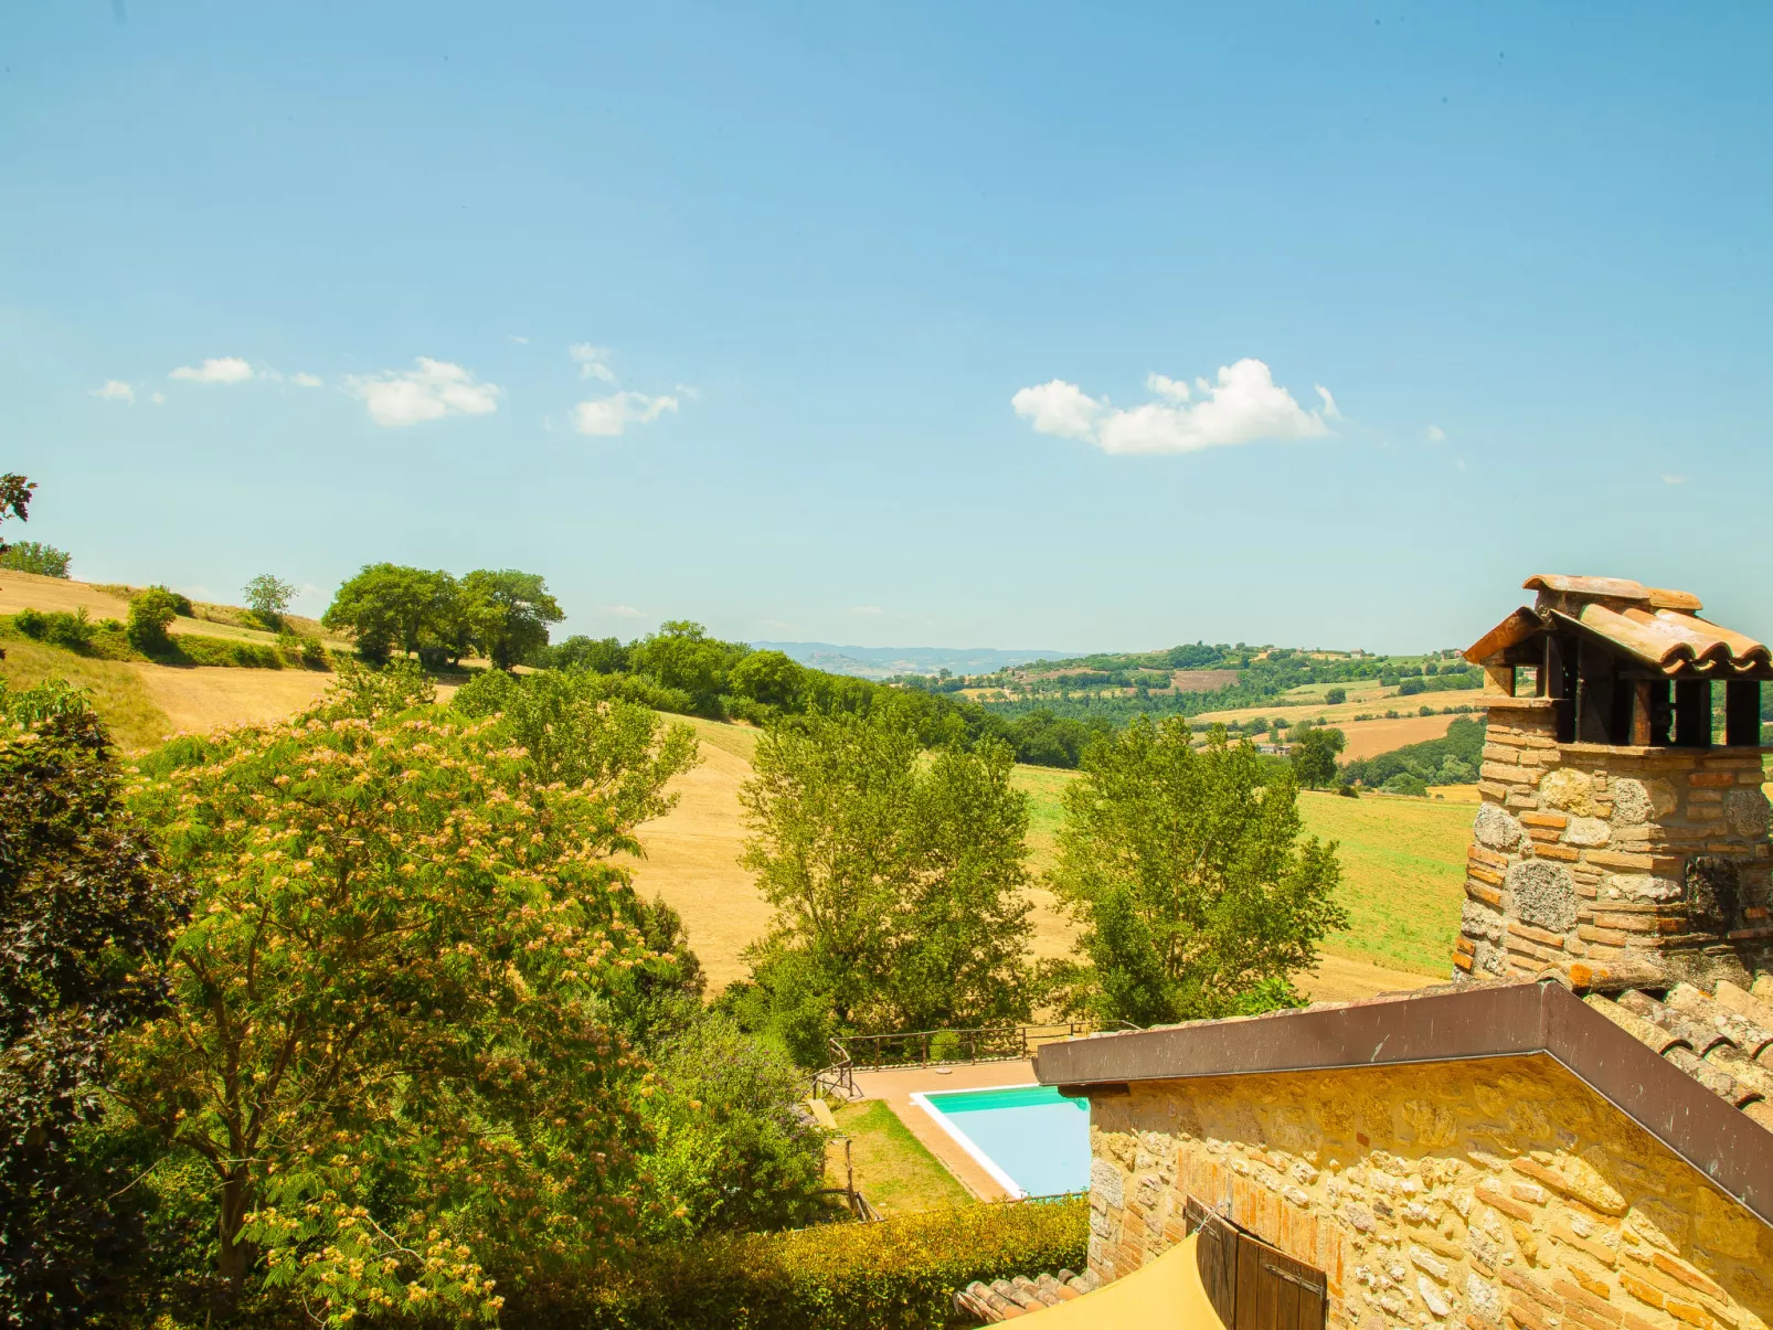
[[[975,1279],[1082,1270],[1089,1215],[1069,1197],[704,1240],[647,1252],[580,1300],[518,1295],[528,1305],[507,1310],[555,1330],[924,1330],[950,1325],[954,1289]]]

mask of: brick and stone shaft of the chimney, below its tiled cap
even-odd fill
[[[1759,748],[1560,745],[1546,699],[1489,704],[1456,977],[1768,966]]]

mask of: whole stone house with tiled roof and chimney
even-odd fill
[[[1528,587],[1468,653],[1452,984],[1041,1050],[1090,1101],[1094,1277],[1199,1229],[1238,1330],[1773,1323],[1768,651],[1681,592]]]

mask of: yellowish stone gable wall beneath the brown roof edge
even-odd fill
[[[1090,1151],[1101,1279],[1193,1195],[1323,1270],[1337,1330],[1773,1319],[1773,1229],[1548,1057],[1135,1082]]]

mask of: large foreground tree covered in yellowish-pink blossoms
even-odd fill
[[[202,904],[145,972],[176,1007],[121,1044],[119,1096],[207,1170],[223,1287],[321,1318],[489,1318],[638,1224],[644,1068],[606,1013],[676,963],[612,857],[681,745],[628,731],[566,784],[495,716],[402,709],[422,688],[348,670],[137,796]]]

